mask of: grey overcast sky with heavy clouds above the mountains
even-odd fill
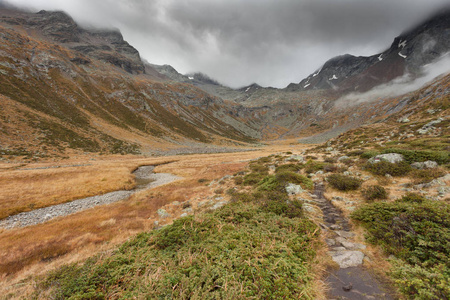
[[[373,55],[448,0],[0,0],[120,29],[141,57],[241,87],[285,87],[328,59]]]

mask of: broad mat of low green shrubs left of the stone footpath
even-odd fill
[[[272,210],[283,214],[293,209],[232,203],[198,219],[176,220],[138,235],[110,255],[52,272],[34,296],[314,299],[317,226]]]

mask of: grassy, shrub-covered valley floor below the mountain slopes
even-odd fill
[[[202,273],[202,268],[206,268],[205,272],[218,272],[218,280],[222,280],[220,272],[228,274],[223,277],[225,285],[216,286],[211,291],[214,295],[225,298],[234,295],[238,296],[236,299],[275,299],[280,295],[291,295],[292,289],[299,289],[298,295],[303,297],[327,299],[327,289],[330,288],[333,295],[344,297],[366,290],[373,291],[373,295],[382,295],[385,299],[396,298],[392,291],[395,290],[394,285],[398,279],[392,279],[387,274],[394,270],[397,274],[404,272],[402,274],[406,274],[406,278],[419,275],[411,275],[409,265],[402,261],[403,257],[399,256],[394,262],[387,259],[389,254],[397,255],[392,251],[408,253],[408,245],[390,245],[389,242],[395,241],[395,238],[383,236],[386,234],[384,229],[381,233],[376,231],[384,226],[383,222],[390,221],[383,215],[379,220],[372,220],[365,210],[373,210],[371,214],[377,215],[381,214],[377,210],[384,211],[383,205],[391,205],[394,210],[400,207],[406,212],[420,213],[422,209],[445,212],[448,210],[449,195],[447,168],[439,166],[431,171],[411,171],[408,174],[394,175],[397,176],[394,178],[380,176],[372,173],[373,170],[366,169],[368,155],[376,154],[373,150],[338,150],[339,144],[336,143],[334,148],[324,148],[325,146],[300,144],[297,140],[286,140],[268,143],[265,147],[249,152],[164,157],[86,156],[59,162],[0,164],[0,184],[5,187],[0,190],[2,219],[10,214],[71,203],[75,199],[112,191],[133,191],[131,196],[121,201],[54,218],[42,224],[0,229],[0,294],[5,295],[5,299],[26,298],[30,295],[46,298],[49,296],[47,293],[54,293],[53,288],[57,287],[58,297],[64,298],[64,295],[80,292],[78,286],[85,289],[82,291],[84,294],[79,294],[85,297],[91,292],[100,298],[119,297],[113,296],[115,293],[120,297],[133,297],[139,296],[142,291],[170,294],[170,289],[167,289],[170,282],[158,281],[165,278],[164,280],[180,283],[173,286],[176,293],[172,293],[170,297],[188,297],[186,295],[189,293],[197,292],[200,297],[199,295],[208,295],[209,291],[193,289],[189,285],[191,279],[186,281],[186,278],[194,276],[192,278],[195,280],[203,280],[202,276],[206,275]],[[407,157],[412,153],[402,151]],[[439,151],[414,152],[414,155],[418,154],[436,155],[444,163],[448,161],[448,153],[443,157],[443,153]],[[155,166],[153,172],[172,174],[178,180],[152,189],[136,190],[137,185],[150,183],[148,178],[141,178],[142,174],[133,175],[133,171],[140,166]],[[426,178],[429,182],[434,178],[428,185],[420,183],[425,175],[429,177]],[[339,178],[336,186],[333,176]],[[352,180],[358,186],[346,190],[354,183]],[[314,194],[313,182],[316,187],[325,187],[320,190],[320,195]],[[289,189],[285,189],[287,186],[290,186]],[[384,191],[386,194],[380,199],[386,200],[368,200],[367,195],[374,193],[374,189]],[[427,200],[410,192],[435,200]],[[411,210],[409,206],[414,207]],[[403,218],[402,214],[400,216]],[[394,218],[393,222],[397,222],[395,215],[390,217]],[[297,221],[292,221],[293,219]],[[408,220],[404,222],[407,223]],[[446,232],[447,221],[442,222],[444,223],[439,230]],[[416,226],[416,223],[406,223],[404,226]],[[166,226],[169,224],[173,225]],[[367,235],[363,227],[376,237]],[[420,228],[416,230],[421,230]],[[253,230],[252,240],[249,241],[253,250],[247,253],[248,245],[243,236],[246,236],[245,232],[249,229]],[[190,233],[184,236],[186,230]],[[292,236],[292,230],[299,230],[298,236]],[[205,235],[202,232],[214,234]],[[136,234],[138,235],[135,237]],[[266,234],[268,235],[263,237]],[[395,237],[395,234],[404,233],[393,234]],[[365,237],[371,243],[367,243]],[[269,242],[266,242],[267,238]],[[236,239],[237,244],[228,239]],[[254,244],[260,239],[263,240]],[[127,243],[123,244],[124,242]],[[220,247],[216,249],[215,243],[234,246],[225,250]],[[198,253],[192,253],[191,250],[195,247],[206,247],[206,250],[199,248]],[[236,252],[236,249],[240,252]],[[382,249],[391,252],[384,252]],[[231,255],[237,259],[239,266],[234,265],[236,262],[232,260],[223,260],[223,251],[227,255],[247,253],[248,261],[241,261],[239,256]],[[439,251],[441,250],[436,252],[438,254],[430,252],[430,255],[441,255]],[[215,253],[211,254],[214,257],[208,253]],[[292,255],[293,253],[296,254]],[[348,261],[347,254],[351,256]],[[93,260],[86,261],[92,257]],[[128,261],[127,257],[135,259]],[[340,260],[342,257],[344,261]],[[153,261],[156,258],[157,261]],[[220,260],[217,262],[218,266],[225,268],[225,271],[214,269],[215,265],[209,259]],[[278,263],[274,263],[272,259],[279,259]],[[152,260],[152,263],[147,264],[148,260]],[[203,265],[205,262],[206,265]],[[80,264],[62,267],[72,263]],[[229,266],[230,263],[234,267]],[[266,263],[269,263],[267,267],[261,268]],[[114,270],[109,269],[112,266],[115,266]],[[187,269],[180,269],[182,267]],[[302,269],[303,267],[306,269]],[[369,278],[365,282],[366,287],[358,286],[358,281],[344,282],[353,280],[348,275],[349,272],[345,271],[347,267],[355,270],[352,271],[354,274],[365,274],[365,278]],[[116,274],[116,271],[125,270],[123,268],[131,269],[122,275]],[[142,271],[136,271],[135,268],[142,268]],[[161,268],[165,273],[160,273]],[[235,275],[227,273],[230,270],[241,270],[239,276],[253,279],[240,286]],[[422,271],[426,272],[427,269]],[[105,282],[98,283],[95,279],[96,272],[106,272],[108,276],[116,274],[113,279],[117,283],[111,283],[109,277],[101,279],[106,280]],[[279,272],[293,272],[291,275],[304,283],[294,283],[289,276],[278,277],[281,274]],[[328,279],[327,274],[331,274]],[[261,277],[258,279],[259,277],[254,276]],[[423,279],[420,276],[417,278]],[[208,279],[205,280],[208,282]],[[403,279],[401,284],[412,282],[408,280]],[[448,278],[444,276],[442,280]],[[97,288],[94,292],[92,288],[95,289],[98,284],[102,286],[101,291]],[[109,284],[112,285],[108,287]],[[127,284],[133,288],[127,290]],[[253,284],[258,285],[257,290],[262,290],[263,294],[249,296],[254,293]],[[445,295],[447,291],[445,286],[423,284],[425,288],[408,286],[403,293],[412,291],[420,295],[426,289],[433,288]],[[386,292],[383,285],[389,287],[389,292]],[[287,286],[290,286],[291,291],[286,289]],[[265,294],[266,292],[269,294]]]

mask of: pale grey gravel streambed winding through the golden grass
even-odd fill
[[[141,166],[133,172],[136,180],[136,187],[133,190],[110,192],[9,216],[0,221],[0,228],[12,229],[41,224],[56,217],[63,217],[99,205],[125,200],[138,191],[181,179],[181,177],[168,173],[153,173],[154,168],[154,166]]]

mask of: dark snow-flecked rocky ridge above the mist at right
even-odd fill
[[[390,48],[382,53],[369,57],[349,54],[335,57],[287,89],[364,92],[405,74],[420,76],[424,65],[449,51],[450,10],[447,10],[396,37]]]

